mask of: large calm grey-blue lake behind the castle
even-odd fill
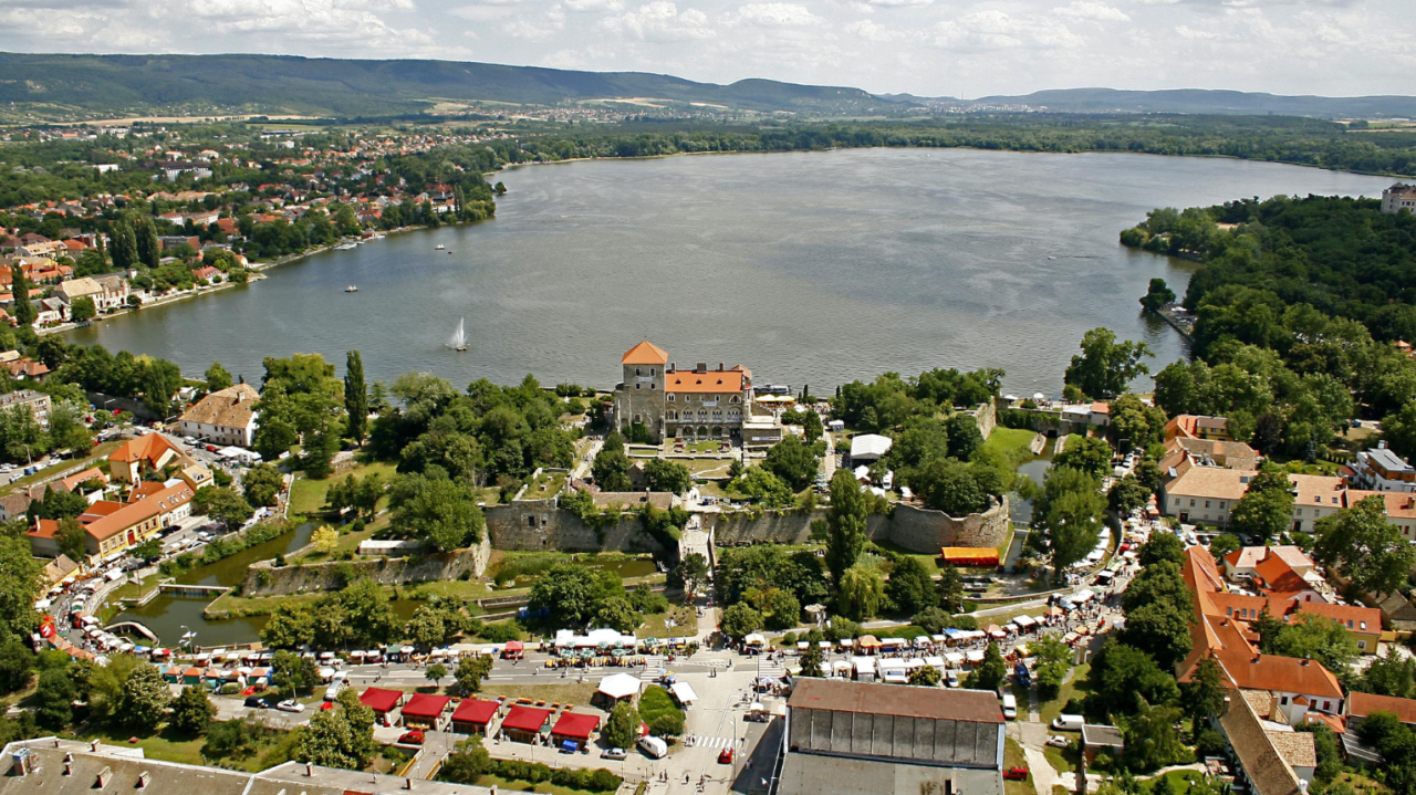
[[[1381,195],[1391,180],[1238,160],[971,150],[843,150],[605,160],[500,174],[497,219],[326,252],[246,287],[81,330],[258,381],[269,355],[358,348],[368,376],[430,371],[600,388],[643,338],[818,395],[885,371],[1004,368],[1055,393],[1082,334],[1155,351],[1148,280],[1189,263],[1121,248],[1155,207],[1274,194]],[[438,245],[446,250],[436,250]],[[347,284],[358,293],[346,294]],[[443,347],[466,317],[472,349]]]

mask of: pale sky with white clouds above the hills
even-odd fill
[[[1410,95],[1416,0],[0,0],[0,50],[440,58],[969,99]]]

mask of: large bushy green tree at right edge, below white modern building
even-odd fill
[[[1381,497],[1368,497],[1324,516],[1314,529],[1314,557],[1340,569],[1359,593],[1395,593],[1416,566],[1416,547],[1406,543],[1400,528],[1386,521],[1386,504]]]

